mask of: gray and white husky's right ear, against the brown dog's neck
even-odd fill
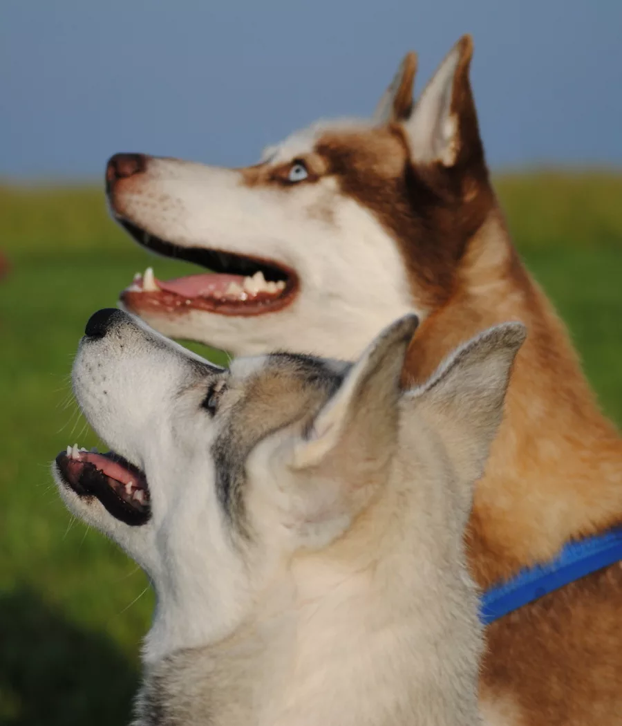
[[[461,346],[411,399],[438,432],[459,478],[479,478],[502,420],[512,364],[527,330],[522,323],[496,325]]]

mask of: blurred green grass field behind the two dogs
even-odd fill
[[[622,176],[504,176],[528,267],[568,323],[602,407],[622,423]],[[49,462],[96,443],[70,399],[84,323],[153,258],[94,189],[0,188],[0,723],[128,722],[152,592],[118,549],[71,520]],[[188,266],[155,260],[158,276]],[[200,350],[200,346],[194,346]]]

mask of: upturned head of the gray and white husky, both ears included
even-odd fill
[[[523,326],[488,330],[402,391],[416,325],[399,319],[354,364],[276,353],[222,369],[123,311],[91,317],[73,388],[113,451],[70,447],[54,476],[155,585],[147,659],[286,609],[285,573],[304,553],[342,574],[375,566],[382,547],[405,549],[413,572],[418,558],[460,559]],[[310,577],[298,596],[324,587]]]

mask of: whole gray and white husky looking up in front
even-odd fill
[[[481,632],[463,532],[524,328],[487,330],[421,386],[409,315],[355,363],[222,369],[120,310],[73,367],[113,452],[54,476],[157,592],[136,725],[475,725]]]

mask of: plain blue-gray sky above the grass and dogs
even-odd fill
[[[622,165],[621,0],[1,0],[0,176],[88,179],[115,151],[236,166],[417,89],[462,33],[497,168]]]

